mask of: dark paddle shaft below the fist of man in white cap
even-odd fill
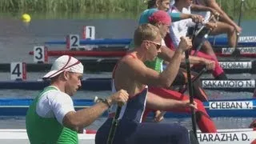
[[[117,127],[118,127],[119,115],[121,113],[121,110],[122,110],[122,106],[118,106],[118,108],[117,108],[117,110],[114,114],[112,125],[110,127],[109,136],[108,136],[107,142],[106,142],[107,144],[112,144],[113,141],[114,141],[114,134],[115,134],[115,131],[117,130]]]

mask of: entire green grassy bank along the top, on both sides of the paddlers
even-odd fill
[[[146,9],[146,0],[0,0],[0,12],[134,13]],[[231,16],[238,15],[242,0],[217,0]],[[256,12],[256,0],[246,0],[243,11]]]

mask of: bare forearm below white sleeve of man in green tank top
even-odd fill
[[[89,126],[98,117],[100,117],[108,106],[105,103],[98,102],[94,106],[78,110],[70,111],[63,118],[62,124],[72,130],[80,130],[83,127]]]

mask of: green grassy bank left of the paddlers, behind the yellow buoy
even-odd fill
[[[146,8],[142,0],[1,0],[2,12],[138,12]]]

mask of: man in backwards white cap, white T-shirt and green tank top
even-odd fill
[[[78,131],[89,126],[115,103],[125,104],[126,90],[119,90],[90,108],[74,110],[73,96],[82,86],[82,63],[63,55],[55,60],[47,86],[31,103],[26,114],[26,131],[30,143],[78,143]]]

